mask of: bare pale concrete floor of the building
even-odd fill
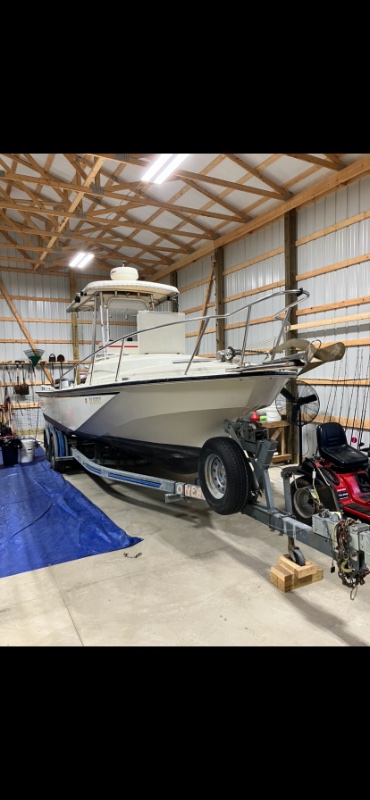
[[[281,467],[270,469],[283,507]],[[0,579],[2,647],[360,647],[370,644],[370,576],[355,599],[331,560],[301,546],[324,579],[283,593],[270,568],[284,535],[203,501],[108,483],[66,480],[143,541]],[[298,543],[299,544],[299,543]]]

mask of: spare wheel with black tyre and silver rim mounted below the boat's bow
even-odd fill
[[[199,456],[198,477],[208,505],[217,514],[236,514],[245,506],[246,458],[233,439],[215,436],[205,442]]]

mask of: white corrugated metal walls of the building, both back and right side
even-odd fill
[[[363,429],[364,444],[369,445],[369,220],[370,178],[341,188],[296,212],[297,276],[296,286],[291,288],[302,286],[310,297],[298,308],[294,333],[323,345],[342,341],[346,347],[340,362],[322,365],[309,373],[307,382],[319,394],[320,413],[314,424],[303,429],[303,455],[313,454],[315,425],[328,419],[341,422],[347,429],[347,436],[350,434],[349,438],[356,441]],[[10,256],[10,251],[5,245],[1,246],[2,263],[6,263],[7,255]],[[224,313],[241,309],[252,301],[262,301],[253,309],[248,346],[258,347],[261,342],[270,346],[275,331],[271,317],[284,305],[284,297],[282,303],[279,298],[274,301],[264,298],[274,289],[285,287],[284,219],[227,245],[222,257]],[[30,344],[22,322],[35,346],[43,349],[41,360],[49,372],[59,375],[58,362],[50,367],[50,355],[64,356],[63,371],[76,360],[72,320],[66,314],[66,307],[89,281],[107,279],[107,273],[95,267],[73,275],[72,285],[70,276],[31,274],[26,266],[0,270],[3,287],[0,293],[0,402],[11,392],[14,428],[20,435],[42,436],[43,420],[33,387],[48,380],[41,365],[33,372],[31,364],[27,363],[24,351]],[[187,349],[191,352],[199,330],[196,318],[203,313],[215,313],[214,256],[209,255],[179,270],[177,285],[181,292],[179,310],[187,315]],[[233,318],[233,324],[239,327],[228,326],[225,320],[226,347],[240,346],[245,314],[244,310]],[[117,337],[127,333],[129,325],[130,320],[125,331],[117,326]],[[81,316],[76,326],[79,358],[87,358],[91,352],[91,324],[84,322]],[[212,355],[216,350],[216,329],[211,321],[200,354]],[[23,380],[16,361],[23,362],[30,384],[30,393],[25,397],[12,391],[17,380]]]

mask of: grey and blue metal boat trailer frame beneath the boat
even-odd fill
[[[363,585],[365,577],[370,574],[370,526],[344,516],[339,509],[333,510],[337,508],[334,497],[333,502],[329,503],[332,509],[324,508],[317,493],[315,494],[314,485],[311,491],[317,501],[318,511],[312,515],[312,526],[295,519],[291,485],[295,477],[300,474],[299,465],[282,468],[285,508],[277,508],[269,475],[277,442],[268,438],[266,428],[250,421],[226,420],[224,429],[228,436],[240,445],[245,454],[249,492],[247,502],[240,513],[262,522],[270,530],[286,535],[289,558],[298,566],[305,565],[305,558],[297,547],[296,540],[328,555],[332,560],[331,571],[334,571],[336,562],[338,575],[343,585],[351,589],[351,599],[354,599],[358,586]],[[76,437],[67,437],[48,424],[44,443],[46,457],[53,469],[63,472],[67,463],[77,461],[85,470],[99,477],[162,491],[165,493],[165,502],[187,498],[206,502],[197,481],[185,483],[115,469],[111,463],[99,463],[95,458],[83,453],[76,446],[77,441]]]

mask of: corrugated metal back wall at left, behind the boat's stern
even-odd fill
[[[12,251],[14,252],[14,251]],[[6,257],[6,248],[0,248]],[[89,280],[99,280],[106,273],[94,272],[93,276],[77,274],[77,289],[81,291]],[[58,274],[38,274],[25,272],[22,260],[11,270],[0,270],[0,281],[13,308],[19,315],[35,346],[42,352],[40,361],[53,378],[60,377],[73,360],[71,317],[66,307],[71,302],[71,288],[68,276]],[[91,352],[91,324],[78,327],[81,343],[81,358]],[[35,395],[36,385],[46,381],[40,363],[33,369],[32,362],[25,351],[30,349],[29,341],[16,319],[6,297],[0,293],[0,404],[10,399],[12,427],[19,436],[33,435],[42,439],[44,420]],[[51,355],[55,363],[50,363]],[[57,361],[62,355],[63,364]],[[16,362],[20,364],[17,368]],[[19,393],[19,384],[27,383],[28,394]]]

